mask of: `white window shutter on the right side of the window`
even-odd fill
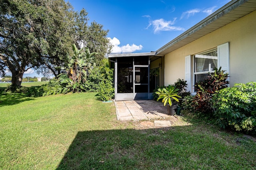
[[[218,45],[218,68],[225,70],[229,74],[229,43]],[[229,81],[229,77],[227,79]]]

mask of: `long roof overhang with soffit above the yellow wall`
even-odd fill
[[[156,55],[166,55],[196,39],[215,31],[256,10],[255,0],[232,0],[210,16],[200,21],[160,49]]]

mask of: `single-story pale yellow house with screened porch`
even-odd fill
[[[232,0],[160,49],[110,54],[116,100],[152,99],[157,86],[187,80],[188,89],[214,68],[234,83],[256,81],[256,0]]]

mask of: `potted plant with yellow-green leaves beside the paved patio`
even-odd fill
[[[178,98],[181,98],[178,95],[178,88],[176,86],[168,86],[166,88],[158,88],[158,91],[156,94],[158,95],[158,98],[156,101],[162,99],[162,103],[164,103],[164,106],[166,106],[167,102],[167,111],[168,115],[175,115],[175,109],[177,108],[178,104],[174,104],[174,102],[179,102]],[[174,100],[174,102],[172,102]]]

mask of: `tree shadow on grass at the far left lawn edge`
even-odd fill
[[[0,93],[0,107],[19,104],[28,100],[34,100],[34,98],[26,97],[26,94],[21,93]]]

